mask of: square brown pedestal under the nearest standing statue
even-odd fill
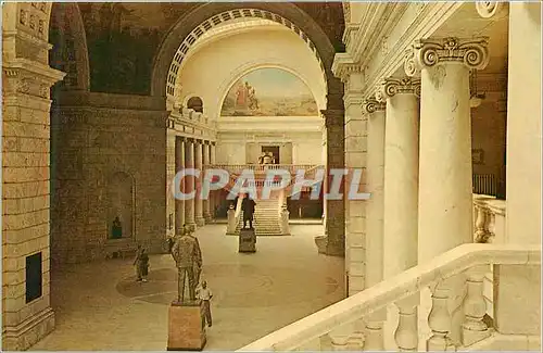
[[[172,303],[168,322],[168,351],[201,351],[204,348],[205,328],[198,302]]]

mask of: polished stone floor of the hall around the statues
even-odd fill
[[[293,225],[291,237],[262,237],[238,253],[225,225],[197,232],[202,277],[214,292],[205,350],[236,350],[344,295],[343,259],[317,254],[321,225]],[[55,330],[33,350],[165,350],[167,308],[176,295],[169,255],[152,255],[149,282],[132,260],[66,266],[52,276]]]

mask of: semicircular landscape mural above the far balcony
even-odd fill
[[[238,79],[223,102],[222,116],[316,116],[310,88],[280,68],[258,68]]]

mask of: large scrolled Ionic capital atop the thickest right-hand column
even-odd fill
[[[405,53],[404,70],[407,76],[439,63],[464,63],[470,70],[483,70],[490,60],[488,47],[487,37],[418,39]]]

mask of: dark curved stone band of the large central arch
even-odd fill
[[[155,55],[152,72],[151,96],[166,97],[166,83],[172,62],[179,49],[179,45],[202,23],[213,20],[222,13],[255,9],[266,11],[286,18],[304,33],[315,47],[316,53],[323,63],[327,81],[327,110],[343,111],[343,85],[331,72],[336,50],[323,28],[307,13],[293,3],[251,2],[242,5],[229,2],[210,2],[199,5],[182,16],[164,37]]]

